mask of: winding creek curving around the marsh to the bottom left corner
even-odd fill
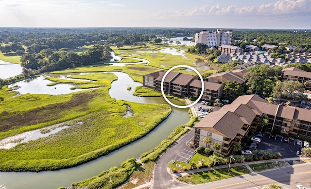
[[[134,82],[127,74],[113,72],[118,80],[112,83],[109,94],[112,98],[122,99],[137,103],[166,103],[162,97],[136,97],[132,93],[140,83]],[[41,80],[43,81],[43,80]],[[40,82],[41,82],[40,81]],[[30,82],[31,83],[31,82]],[[126,90],[126,85],[132,87]],[[35,86],[35,85],[34,85]],[[58,85],[56,85],[58,87]],[[32,87],[35,90],[35,87]],[[48,90],[50,91],[50,90]],[[48,92],[47,92],[48,93]],[[46,94],[47,94],[46,93]],[[182,105],[177,101],[173,103]],[[166,103],[167,104],[167,103]],[[86,164],[65,170],[45,172],[0,172],[0,186],[4,184],[6,189],[57,189],[62,186],[70,186],[78,182],[108,170],[113,166],[120,166],[121,162],[132,157],[138,157],[143,152],[149,151],[167,138],[173,129],[190,120],[188,109],[172,107],[170,116],[159,124],[147,136],[133,142],[123,148],[105,155]]]

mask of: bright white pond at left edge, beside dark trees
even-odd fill
[[[0,78],[1,79],[14,77],[18,74],[21,74],[22,71],[23,69],[19,64],[12,64],[10,62],[5,62],[3,60],[0,60]]]

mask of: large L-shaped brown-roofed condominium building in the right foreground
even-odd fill
[[[194,145],[206,146],[205,137],[211,138],[211,144],[219,142],[223,155],[229,155],[232,144],[241,144],[251,128],[261,127],[257,120],[269,119],[268,130],[278,130],[289,136],[311,137],[310,110],[299,107],[287,107],[271,104],[257,95],[243,95],[233,103],[223,106],[217,112],[209,113],[197,123]]]

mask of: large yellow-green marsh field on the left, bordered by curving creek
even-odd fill
[[[6,87],[0,90],[4,98],[0,102],[4,110],[0,114],[0,138],[65,121],[68,125],[83,122],[46,138],[0,149],[0,171],[57,170],[85,163],[146,135],[171,112],[166,104],[111,99],[108,89],[116,79],[112,73],[83,77],[103,87],[68,95],[17,97]],[[122,117],[126,105],[134,112],[133,117]]]

